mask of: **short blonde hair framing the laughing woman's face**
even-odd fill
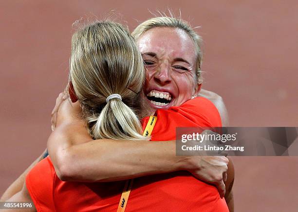
[[[203,52],[201,48],[202,37],[198,35],[185,20],[167,16],[150,18],[144,21],[134,29],[131,35],[137,41],[142,34],[154,27],[178,28],[185,31],[187,35],[190,36],[190,38],[194,42],[195,51],[197,54],[196,80],[198,84],[201,84],[203,82],[201,73],[201,65],[203,59]]]

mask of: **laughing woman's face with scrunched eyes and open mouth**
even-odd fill
[[[196,52],[192,39],[181,29],[155,27],[139,37],[147,79],[143,102],[152,109],[180,106],[196,96]]]

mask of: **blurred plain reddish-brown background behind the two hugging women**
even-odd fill
[[[0,1],[0,195],[46,148],[67,83],[72,23],[117,20],[133,30],[172,11],[201,26],[203,88],[220,94],[231,126],[298,126],[296,0]],[[298,157],[234,157],[236,212],[296,212]]]

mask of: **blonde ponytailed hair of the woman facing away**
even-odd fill
[[[121,24],[96,21],[73,35],[69,81],[94,139],[145,139],[136,94],[144,80],[142,56]],[[115,93],[122,101],[107,103]]]

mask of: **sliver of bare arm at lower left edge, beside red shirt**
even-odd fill
[[[8,189],[1,196],[0,201],[6,201],[22,190],[27,174],[40,160],[43,159],[45,152],[46,150],[8,187]]]

